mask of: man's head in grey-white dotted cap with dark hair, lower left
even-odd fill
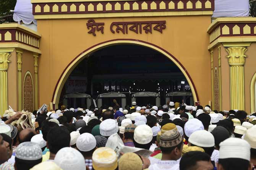
[[[42,149],[37,143],[19,144],[15,153],[15,170],[29,170],[40,162],[42,162]]]

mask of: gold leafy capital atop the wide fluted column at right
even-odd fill
[[[228,63],[230,66],[244,65],[245,64],[245,52],[247,49],[245,47],[229,47],[226,49],[228,52]]]

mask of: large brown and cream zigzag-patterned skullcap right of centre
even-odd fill
[[[169,130],[161,134],[159,145],[164,148],[170,148],[179,145],[182,141],[183,137],[181,137],[178,130]]]

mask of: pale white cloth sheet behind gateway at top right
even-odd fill
[[[248,0],[215,0],[212,17],[241,17],[249,15]]]

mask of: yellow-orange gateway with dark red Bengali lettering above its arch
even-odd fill
[[[212,18],[214,0],[31,0],[31,3],[37,31],[17,23],[0,24],[1,114],[8,106],[33,111],[46,103],[51,109],[59,108],[70,90],[67,84],[72,84],[71,77],[79,72],[77,68],[86,70],[90,63],[97,66],[99,61],[91,59],[92,56],[104,60],[102,57],[107,55],[108,60],[105,65],[87,69],[84,74],[88,78],[81,78],[84,81],[80,84],[76,81],[81,88],[85,82],[84,92],[91,92],[86,99],[96,99],[93,96],[103,93],[104,88],[108,91],[113,84],[116,92],[122,89],[130,95],[133,84],[120,81],[105,85],[102,79],[113,69],[123,72],[125,79],[132,73],[131,63],[136,65],[142,56],[145,60],[146,56],[152,58],[153,53],[154,61],[164,61],[166,67],[170,64],[173,69],[177,67],[179,73],[167,71],[162,74],[165,77],[159,78],[157,71],[144,73],[146,66],[140,64],[141,71],[136,76],[131,74],[131,81],[139,84],[137,80],[154,75],[159,82],[167,77],[170,82],[183,79],[192,105],[209,104],[212,110],[219,111],[255,111],[256,18]],[[133,56],[129,63],[124,62],[125,55]],[[114,66],[109,65],[113,62]],[[154,62],[151,64],[153,69]],[[103,78],[90,76],[95,72],[103,74]],[[117,73],[113,75],[118,77]],[[145,82],[145,88],[147,84],[151,86]],[[161,87],[161,94],[158,90],[161,96],[183,87],[182,82],[168,86]],[[136,89],[139,90],[145,91]],[[130,105],[130,98],[126,102]],[[160,104],[164,102],[165,98]]]

